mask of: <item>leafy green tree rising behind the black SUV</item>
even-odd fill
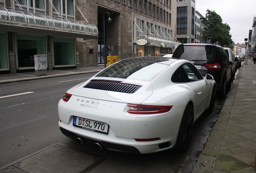
[[[204,24],[203,38],[205,43],[209,40],[211,43],[217,43],[223,47],[231,46],[233,41],[231,34],[229,34],[230,26],[227,23],[223,24],[221,16],[214,10],[207,10],[206,12],[206,18],[200,18]]]

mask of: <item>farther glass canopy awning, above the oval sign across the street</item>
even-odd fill
[[[137,40],[140,40],[140,39],[148,40],[148,36],[142,34],[137,38]],[[164,40],[164,39],[155,38],[152,36],[149,36],[148,41],[151,46],[168,47],[168,48],[173,48],[173,46],[178,46],[179,44],[181,44],[180,42],[175,42],[173,40]]]

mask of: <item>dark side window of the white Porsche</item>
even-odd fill
[[[203,77],[193,64],[180,66],[171,76],[171,81],[175,83],[186,83],[201,80]]]

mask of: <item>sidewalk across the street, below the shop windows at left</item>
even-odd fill
[[[94,72],[99,72],[103,68],[104,66],[93,66],[93,67],[72,68],[72,69],[64,69],[64,70],[47,70],[46,76],[35,76],[35,72],[0,74],[0,84],[27,81],[27,80],[37,80],[42,78],[54,78],[54,77],[61,77],[61,76],[94,73]]]

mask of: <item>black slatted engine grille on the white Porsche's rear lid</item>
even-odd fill
[[[140,85],[126,84],[120,83],[118,81],[112,80],[91,80],[88,84],[84,86],[84,88],[89,89],[98,89],[105,91],[115,91],[120,93],[135,93],[140,87]]]

